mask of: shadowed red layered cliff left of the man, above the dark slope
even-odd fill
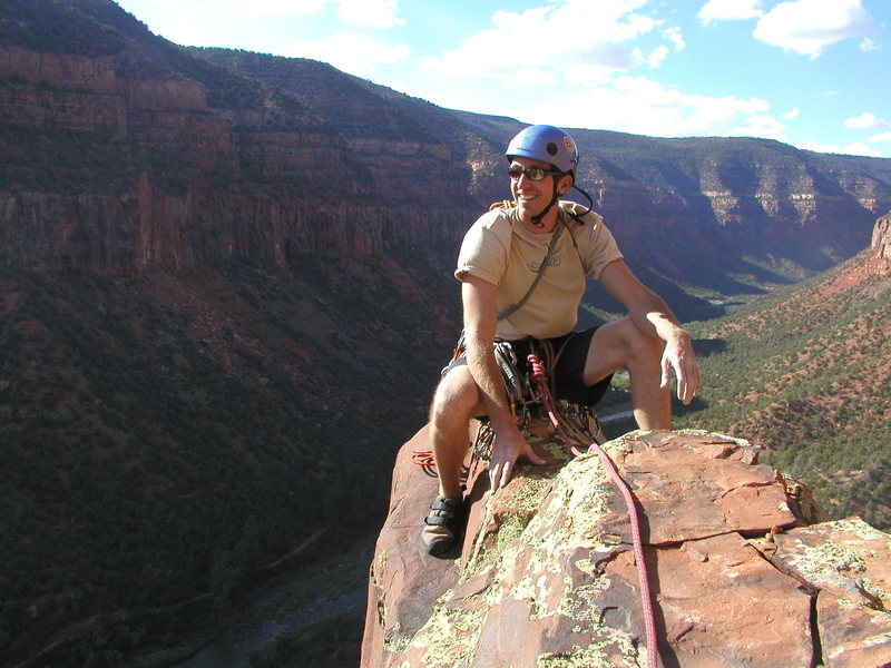
[[[95,24],[63,4],[39,16],[26,4],[7,10],[22,30],[21,19],[68,21],[75,35],[76,19]],[[100,24],[117,10],[80,9]],[[362,259],[452,247],[476,212],[435,141],[347,143],[296,97],[196,60],[120,10],[115,20],[120,39],[90,55],[76,39],[55,52],[0,42],[4,265],[131,273],[228,257]],[[442,176],[449,197],[424,196],[413,173]]]

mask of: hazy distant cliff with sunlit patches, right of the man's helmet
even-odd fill
[[[492,147],[522,127],[458,116]],[[726,281],[732,276],[766,277],[770,268],[801,277],[859,253],[891,203],[887,159],[823,156],[765,139],[570,131],[581,154],[579,185],[626,256],[724,291],[740,287]],[[496,157],[497,149],[479,163],[483,171]],[[486,175],[479,187],[498,177]]]

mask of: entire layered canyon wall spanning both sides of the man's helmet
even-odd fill
[[[473,218],[508,196],[513,119],[438,109],[310,60],[183,50],[108,0],[4,12],[7,264],[182,271],[424,247],[448,265]],[[653,279],[741,289],[734,276],[766,279],[764,267],[824,269],[891,207],[882,160],[574,135],[579,184]]]

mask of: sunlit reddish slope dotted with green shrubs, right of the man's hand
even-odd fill
[[[694,326],[705,389],[678,426],[765,445],[834,515],[891,527],[891,275],[874,249]]]

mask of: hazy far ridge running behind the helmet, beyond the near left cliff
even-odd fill
[[[398,108],[398,117],[411,118],[407,128],[423,128],[444,145],[480,205],[506,196],[502,151],[523,125],[517,119],[441,109],[315,61],[225,49],[190,52],[301,99],[321,100],[311,104],[323,116],[336,116],[335,127],[354,143],[356,132],[368,131],[355,120],[363,106],[378,107],[346,92],[362,87]],[[320,78],[321,71],[330,77]],[[323,92],[327,97],[320,98]],[[326,100],[334,99],[332,107]],[[391,115],[381,116],[386,127]],[[737,277],[800,278],[856,254],[869,243],[875,216],[891,207],[889,159],[826,156],[768,139],[572,132],[582,154],[579,184],[594,194],[635,266],[655,281],[664,276],[728,292],[746,289]],[[421,173],[413,178],[431,194],[449,185],[427,185]]]

